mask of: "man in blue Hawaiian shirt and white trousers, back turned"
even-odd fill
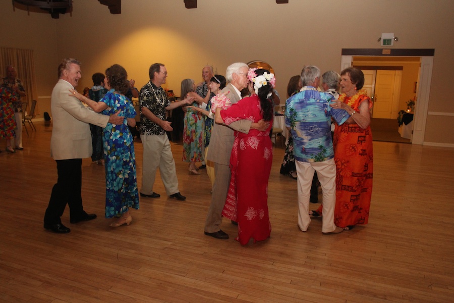
[[[323,190],[322,232],[339,233],[334,224],[336,167],[331,139],[331,117],[343,124],[349,114],[333,109],[332,95],[317,90],[320,70],[306,66],[301,72],[303,88],[287,100],[286,126],[292,132],[294,157],[298,175],[298,227],[306,231],[309,217],[309,197],[312,177],[317,172]]]

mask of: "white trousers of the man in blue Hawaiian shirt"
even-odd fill
[[[336,204],[336,166],[334,159],[323,162],[295,161],[298,175],[298,227],[306,231],[311,223],[309,216],[309,198],[314,171],[323,191],[322,232],[332,232],[334,224],[334,207]]]

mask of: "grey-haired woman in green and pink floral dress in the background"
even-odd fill
[[[181,98],[186,98],[186,95],[190,92],[194,92],[194,80],[184,79],[181,81]],[[196,101],[191,105],[199,106]],[[184,123],[183,161],[189,162],[189,174],[200,175],[195,164],[203,160],[203,115],[191,108],[186,108]]]

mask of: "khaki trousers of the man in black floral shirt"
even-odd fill
[[[167,195],[180,192],[174,155],[167,134],[159,136],[140,135],[140,139],[143,144],[142,187],[140,192],[144,194],[153,193],[158,167]]]

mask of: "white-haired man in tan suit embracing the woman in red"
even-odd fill
[[[230,99],[232,104],[241,99],[240,91],[248,87],[247,74],[249,67],[245,63],[234,63],[227,68],[225,78],[230,81],[222,93]],[[205,235],[216,239],[228,239],[229,235],[223,232],[219,225],[222,223],[222,209],[227,197],[230,183],[230,154],[235,141],[234,130],[248,133],[249,129],[265,130],[267,124],[260,120],[252,123],[250,120],[236,121],[229,126],[215,124],[211,131],[210,148],[207,160],[214,162],[215,180],[211,203],[205,221]]]

